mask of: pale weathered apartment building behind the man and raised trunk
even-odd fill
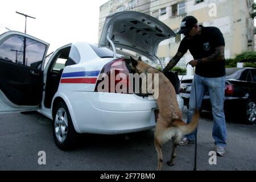
[[[216,26],[224,35],[225,57],[233,58],[243,51],[254,50],[254,20],[250,18],[253,0],[110,0],[100,7],[99,38],[105,17],[118,11],[140,11],[158,18],[175,32],[179,31],[181,20],[192,15],[203,26]],[[179,48],[183,35],[164,40],[159,44],[158,57],[166,65]],[[177,66],[185,65],[193,57],[189,51]],[[150,62],[157,66],[156,61]],[[188,67],[188,75],[193,69]]]

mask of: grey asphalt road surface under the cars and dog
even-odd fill
[[[183,110],[183,119],[187,109]],[[256,170],[256,126],[231,119],[227,122],[226,155],[210,165],[213,150],[212,117],[200,118],[198,170]],[[0,170],[155,170],[154,130],[129,135],[81,136],[81,146],[73,151],[60,151],[53,142],[52,121],[43,115],[0,114]],[[176,164],[169,167],[172,144],[163,146],[163,170],[193,170],[195,145],[178,146]],[[39,151],[46,152],[46,165],[39,165]]]

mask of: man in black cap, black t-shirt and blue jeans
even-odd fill
[[[225,97],[225,40],[217,27],[203,27],[197,24],[193,16],[186,16],[178,34],[184,34],[176,55],[170,60],[163,73],[172,69],[183,55],[189,50],[193,56],[189,62],[196,67],[189,99],[188,119],[191,122],[193,111],[201,107],[205,90],[209,91],[213,114],[212,136],[217,155],[225,155],[226,122],[224,115]],[[196,131],[186,135],[180,145],[195,143]]]

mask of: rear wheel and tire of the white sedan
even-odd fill
[[[78,136],[65,102],[56,104],[53,110],[53,138],[60,150],[72,150],[77,146]]]

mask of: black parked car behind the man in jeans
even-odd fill
[[[192,80],[181,81],[180,95],[188,107]],[[225,102],[226,114],[242,115],[246,123],[256,123],[256,69],[226,68]],[[209,92],[205,93],[201,110],[210,111]]]

